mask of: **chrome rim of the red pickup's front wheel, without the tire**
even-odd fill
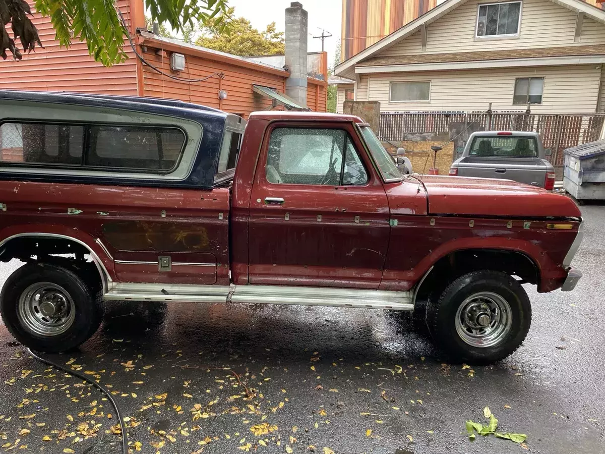
[[[511,331],[512,312],[508,301],[492,292],[469,296],[456,312],[456,332],[473,347],[492,347]]]

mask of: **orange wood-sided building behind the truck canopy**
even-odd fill
[[[30,0],[32,10],[33,1]],[[289,73],[247,59],[221,53],[183,42],[160,38],[145,30],[143,0],[118,0],[128,31],[143,58],[163,73],[185,79],[201,79],[213,73],[224,73],[224,78],[213,76],[203,82],[175,81],[143,65],[136,57],[128,40],[125,51],[128,60],[111,68],[94,61],[88,55],[87,45],[75,39],[70,48],[59,47],[49,18],[34,13],[32,21],[38,27],[44,48],[24,54],[21,61],[10,57],[0,60],[0,88],[5,90],[77,91],[80,93],[117,94],[179,99],[195,104],[220,108],[247,117],[251,112],[272,108],[272,101],[254,93],[252,84],[286,90]],[[185,70],[171,71],[171,54],[185,55]],[[323,74],[327,79],[327,58]],[[327,81],[309,77],[307,80],[307,107],[314,111],[326,110]],[[219,99],[218,92],[227,92]]]

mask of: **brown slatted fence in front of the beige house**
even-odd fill
[[[563,165],[563,150],[598,140],[605,113],[532,114],[525,112],[402,112],[382,113],[378,136],[404,140],[404,134],[449,133],[450,123],[478,123],[479,130],[533,131],[551,148],[553,165]]]

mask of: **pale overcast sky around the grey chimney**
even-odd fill
[[[284,31],[284,17],[290,0],[228,0],[229,6],[235,7],[235,16],[244,16],[252,22],[254,28],[264,30],[267,24],[275,22],[278,31]],[[328,52],[328,66],[332,67],[336,44],[341,36],[342,0],[300,0],[302,7],[309,13],[309,33],[321,35],[321,28],[332,38],[325,39],[325,50]],[[321,50],[321,39],[309,38],[309,52]]]

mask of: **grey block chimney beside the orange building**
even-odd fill
[[[286,8],[286,94],[298,104],[307,105],[307,12],[299,2]]]

